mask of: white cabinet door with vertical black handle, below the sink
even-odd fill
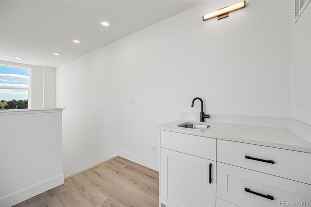
[[[216,162],[161,148],[161,203],[215,207]]]

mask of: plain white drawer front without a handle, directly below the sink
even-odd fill
[[[161,131],[161,147],[216,160],[216,139]]]

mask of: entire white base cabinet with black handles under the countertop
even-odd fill
[[[311,204],[310,153],[163,130],[160,146],[166,207]]]

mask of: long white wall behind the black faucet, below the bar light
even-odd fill
[[[232,3],[205,2],[57,68],[65,175],[112,148],[158,162],[155,126],[199,111],[197,96],[207,113],[289,116],[288,2],[202,21]]]

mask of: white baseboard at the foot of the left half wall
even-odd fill
[[[38,195],[42,192],[55,188],[64,183],[64,174],[53,177],[49,180],[38,183],[34,186],[31,186],[27,189],[20,190],[11,195],[5,196],[0,199],[1,207],[12,207],[22,201],[25,201],[35,195]]]

